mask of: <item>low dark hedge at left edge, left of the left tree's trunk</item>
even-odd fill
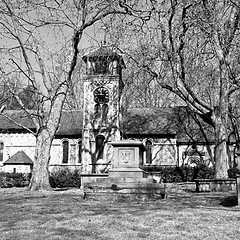
[[[25,173],[0,173],[0,187],[25,187],[29,185],[30,174]]]

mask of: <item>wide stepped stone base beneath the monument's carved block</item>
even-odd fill
[[[165,184],[154,183],[144,178],[143,171],[111,171],[108,178],[97,178],[85,182],[87,199],[110,200],[157,200],[166,197]]]

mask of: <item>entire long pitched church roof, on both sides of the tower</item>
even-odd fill
[[[4,114],[19,124],[32,130],[35,129],[32,120],[21,110],[6,110]],[[82,124],[82,110],[63,110],[56,136],[80,137],[82,135]],[[211,126],[206,124],[203,126],[208,137],[212,138]],[[185,107],[129,109],[122,113],[120,130],[125,137],[131,137],[131,135],[166,137],[167,135],[176,136],[178,141],[183,142],[205,141],[199,126],[189,116]],[[23,132],[23,128],[0,115],[0,132]]]

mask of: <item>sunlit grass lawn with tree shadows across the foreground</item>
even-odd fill
[[[234,193],[172,192],[164,200],[124,202],[82,199],[78,189],[0,189],[0,239],[240,239],[235,201]]]

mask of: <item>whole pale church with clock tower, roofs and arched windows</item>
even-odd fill
[[[207,151],[201,139],[196,145],[181,134],[178,108],[135,108],[120,113],[122,71],[126,68],[121,55],[102,46],[83,60],[87,69],[83,109],[63,110],[51,149],[50,171],[108,172],[113,157],[111,142],[121,139],[142,141],[144,165],[209,163],[213,145],[208,145]],[[0,171],[31,172],[35,137],[20,125],[29,129],[34,125],[21,110],[6,110],[4,115],[0,115]]]

